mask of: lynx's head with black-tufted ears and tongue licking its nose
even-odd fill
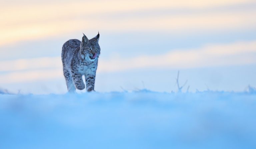
[[[85,35],[83,36],[80,46],[80,54],[83,59],[91,62],[98,59],[100,55],[99,38],[99,33],[90,40]]]

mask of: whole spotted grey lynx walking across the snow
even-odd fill
[[[68,92],[75,92],[76,88],[79,90],[85,88],[82,80],[83,75],[85,75],[86,90],[94,91],[100,55],[99,37],[100,34],[98,33],[97,36],[89,40],[84,35],[82,42],[71,39],[62,46],[61,59]]]

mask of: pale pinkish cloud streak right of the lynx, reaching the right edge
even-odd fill
[[[187,69],[200,67],[246,65],[256,63],[256,41],[226,45],[206,45],[199,49],[174,50],[164,55],[133,59],[112,58],[99,62],[102,72],[141,68]],[[117,65],[118,64],[118,65]]]

